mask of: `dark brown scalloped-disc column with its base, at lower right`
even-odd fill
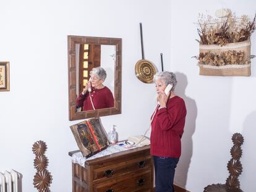
[[[234,143],[230,149],[231,159],[228,162],[229,177],[226,179],[226,184],[212,184],[204,188],[203,192],[216,192],[216,191],[228,191],[228,192],[242,192],[240,188],[240,182],[238,180],[239,175],[242,173],[242,164],[240,158],[242,157],[241,145],[244,143],[244,137],[240,133],[234,133],[232,136]]]

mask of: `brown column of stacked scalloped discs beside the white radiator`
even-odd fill
[[[36,174],[34,176],[33,185],[38,191],[49,192],[49,185],[52,181],[51,173],[48,172],[48,159],[45,156],[47,149],[44,141],[36,141],[33,144],[32,151],[35,154],[34,167]]]

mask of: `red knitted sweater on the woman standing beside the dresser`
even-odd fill
[[[181,136],[186,119],[186,106],[182,98],[168,99],[166,108],[159,109],[151,123],[150,153],[152,156],[181,156]]]

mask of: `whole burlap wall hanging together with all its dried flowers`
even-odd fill
[[[236,17],[229,9],[216,10],[217,19],[199,14],[198,35],[200,75],[250,76],[250,36],[255,19]]]

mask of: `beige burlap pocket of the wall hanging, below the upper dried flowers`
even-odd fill
[[[202,60],[205,57],[210,60],[208,64],[199,64],[200,75],[250,76],[250,40],[228,43],[224,46],[200,44],[199,54],[203,56]],[[226,61],[230,58],[231,61],[234,61],[234,64],[215,65],[214,61],[222,56],[227,58]],[[225,59],[220,60],[220,62],[225,62]]]

